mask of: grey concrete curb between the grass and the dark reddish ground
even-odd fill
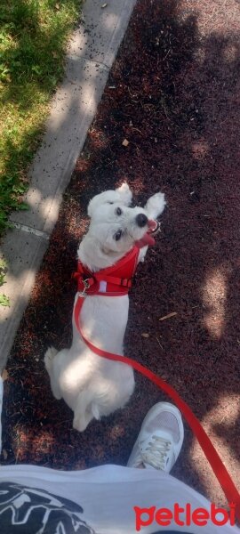
[[[9,270],[1,292],[0,370],[12,348],[36,272],[48,247],[66,189],[108,80],[136,0],[86,0],[82,22],[68,44],[66,76],[52,100],[40,150],[30,169],[28,212],[13,213],[1,256]],[[105,6],[105,7],[104,7]]]

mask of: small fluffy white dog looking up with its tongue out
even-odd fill
[[[131,201],[132,192],[126,183],[92,198],[88,206],[90,227],[77,256],[93,277],[100,270],[118,265],[132,247],[140,248],[138,261],[143,261],[148,245],[154,243],[151,232],[156,230],[154,220],[164,211],[164,194],[156,193],[144,208],[129,207]],[[103,276],[99,282],[100,295],[86,292],[81,328],[84,337],[95,346],[123,354],[128,295],[105,296],[106,287]],[[75,320],[71,348],[60,352],[49,348],[44,363],[53,395],[56,399],[63,398],[74,411],[73,427],[79,432],[85,430],[93,417],[100,419],[123,408],[134,390],[132,368],[92,352],[76,328]]]

